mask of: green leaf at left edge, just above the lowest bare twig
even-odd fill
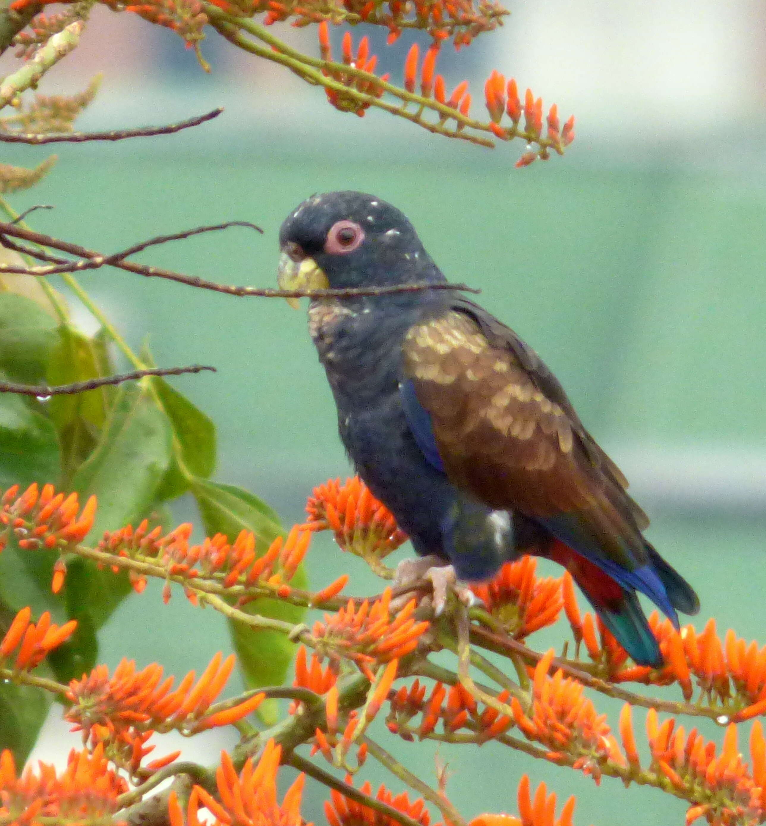
[[[36,384],[45,377],[55,327],[55,320],[36,301],[0,293],[0,369],[8,378]]]

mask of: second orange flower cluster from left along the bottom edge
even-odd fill
[[[201,786],[194,786],[186,812],[187,826],[211,824],[211,821],[201,821],[197,817],[203,807],[213,816],[211,826],[304,826],[301,796],[306,777],[298,775],[282,803],[278,803],[277,774],[281,757],[282,747],[269,740],[255,767],[248,758],[237,775],[231,757],[221,752],[221,765],[216,771],[217,800]],[[168,803],[171,826],[183,826],[183,809],[174,792],[170,794]]]

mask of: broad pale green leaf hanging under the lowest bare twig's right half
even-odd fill
[[[169,467],[170,439],[148,383],[121,385],[96,449],[73,479],[83,500],[98,496],[92,535],[136,524],[150,511]]]

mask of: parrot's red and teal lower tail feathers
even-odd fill
[[[645,666],[659,667],[662,665],[663,657],[659,644],[652,634],[652,629],[649,628],[638,597],[632,588],[621,586],[609,574],[602,571],[596,563],[592,563],[559,539],[553,540],[545,555],[569,571],[574,582],[577,582],[580,590],[588,597],[588,602],[601,617],[607,629],[614,634],[617,642],[625,648],[635,662]],[[678,577],[673,568],[667,563],[664,565]],[[663,578],[659,571],[658,575]],[[685,582],[683,584],[686,585]]]

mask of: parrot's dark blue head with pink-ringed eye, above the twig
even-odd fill
[[[364,192],[308,198],[284,221],[279,247],[283,289],[444,280],[402,212]]]

